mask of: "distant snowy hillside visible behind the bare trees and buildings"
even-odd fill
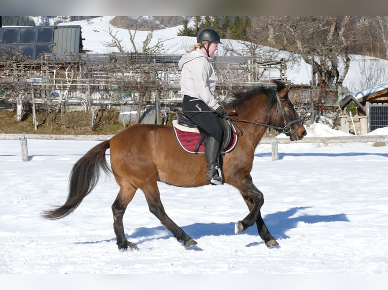
[[[114,47],[107,47],[105,44],[111,42],[112,37],[109,35],[109,29],[113,34],[121,41],[122,46],[128,52],[133,52],[134,48],[130,40],[130,34],[127,29],[117,28],[109,23],[114,16],[103,16],[89,20],[73,21],[68,22],[65,17],[62,18],[51,18],[52,23],[61,21],[65,22],[57,25],[81,25],[82,37],[85,38],[83,41],[84,49],[90,51],[90,53],[110,53],[118,52]],[[36,23],[42,21],[41,17],[34,17]],[[150,45],[156,44],[158,40],[164,40],[165,54],[181,55],[196,42],[195,37],[189,36],[177,36],[178,31],[182,29],[182,25],[158,29],[153,32],[153,38]],[[132,33],[134,31],[132,30]],[[142,41],[146,38],[149,31],[136,31],[134,43],[138,49],[142,47]],[[244,47],[234,40],[223,40],[226,44],[233,45],[236,48]],[[259,55],[262,57],[274,55],[275,49],[267,46],[261,46]],[[286,52],[276,52],[279,58],[289,58],[289,54]],[[218,55],[225,55],[225,51],[222,49],[222,45],[219,46]],[[365,57],[365,56],[352,56],[350,69],[343,82],[343,86],[350,89],[352,93],[365,89],[362,85],[365,81],[362,80],[365,73],[373,72],[376,67],[387,67],[388,61]],[[387,75],[381,74],[374,77],[375,84],[383,83],[388,81]],[[289,62],[287,65],[287,78],[291,83],[294,84],[309,84],[311,80],[311,65],[306,64],[302,59],[295,62]]]

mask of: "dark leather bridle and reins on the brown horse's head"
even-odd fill
[[[290,101],[290,99],[280,99],[278,91],[276,91],[276,99],[277,99],[277,105],[276,105],[276,116],[275,116],[275,119],[274,119],[274,123],[275,123],[276,119],[278,118],[279,108],[280,108],[280,112],[282,113],[282,117],[283,117],[283,121],[284,121],[284,127],[275,126],[274,124],[273,125],[269,125],[269,124],[260,123],[258,120],[256,122],[254,122],[254,121],[244,120],[244,119],[240,119],[240,118],[236,118],[236,117],[232,117],[232,116],[226,116],[225,118],[229,119],[231,121],[235,121],[235,122],[251,123],[251,124],[254,124],[255,127],[260,125],[260,126],[265,126],[265,127],[268,127],[268,128],[273,128],[273,129],[276,129],[276,130],[280,130],[280,131],[284,132],[287,135],[295,135],[296,131],[299,130],[299,128],[303,125],[304,119],[297,118],[296,120],[287,122],[286,110],[284,109],[282,101]],[[292,130],[291,129],[291,125],[295,124],[295,123],[299,123],[299,126],[297,127],[296,130]],[[241,131],[241,129],[240,129],[240,131]]]

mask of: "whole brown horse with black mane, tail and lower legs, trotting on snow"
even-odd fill
[[[306,135],[303,120],[298,117],[288,99],[288,88],[283,82],[274,82],[277,89],[258,87],[248,92],[236,93],[236,101],[225,106],[227,111],[236,112],[229,118],[238,123],[242,134],[236,148],[223,156],[222,172],[224,183],[240,191],[249,209],[249,214],[236,223],[235,232],[242,232],[256,223],[258,233],[267,247],[277,246],[278,243],[261,217],[263,194],[253,184],[250,175],[255,148],[267,127],[283,131],[291,140],[298,140]],[[65,204],[45,211],[43,216],[59,219],[80,205],[95,187],[100,168],[109,173],[105,159],[105,151],[109,148],[111,170],[120,185],[119,194],[112,204],[113,228],[119,249],[137,249],[126,238],[123,216],[138,188],[144,192],[149,211],[178,241],[185,247],[196,245],[197,242],[166,214],[157,181],[181,187],[209,184],[205,180],[205,156],[185,152],[169,125],[133,125],[92,148],[71,170],[69,194]]]

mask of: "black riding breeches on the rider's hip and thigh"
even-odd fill
[[[217,115],[204,103],[191,96],[184,95],[182,102],[184,114],[216,141],[222,142],[223,131]]]

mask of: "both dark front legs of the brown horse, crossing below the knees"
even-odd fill
[[[235,233],[239,233],[252,226],[256,222],[257,230],[268,248],[278,246],[276,239],[269,233],[263,218],[261,217],[260,209],[264,204],[264,196],[262,192],[256,188],[252,182],[252,177],[246,177],[240,188],[240,193],[248,206],[249,214],[242,220],[236,223]]]

